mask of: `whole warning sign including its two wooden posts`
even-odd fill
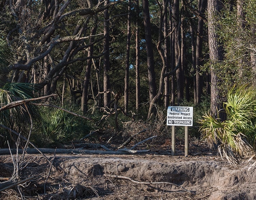
[[[193,126],[193,107],[169,106],[167,126],[172,126],[172,155],[175,155],[175,126],[185,126],[185,156],[188,156],[188,126]]]

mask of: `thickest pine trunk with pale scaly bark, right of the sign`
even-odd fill
[[[216,71],[220,61],[223,60],[223,48],[219,44],[216,33],[216,17],[222,9],[222,2],[219,0],[208,0],[208,37],[210,53],[210,73],[211,73],[211,115],[218,117],[218,111],[221,109],[220,90],[218,87],[219,79]]]

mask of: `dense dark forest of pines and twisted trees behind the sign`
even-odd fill
[[[226,119],[232,86],[255,89],[255,10],[254,0],[1,0],[0,147],[15,146],[10,131],[53,147],[128,122],[169,137],[170,105],[194,106],[199,138],[202,115]]]

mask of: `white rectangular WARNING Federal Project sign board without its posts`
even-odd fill
[[[193,126],[193,107],[169,106],[167,126]]]

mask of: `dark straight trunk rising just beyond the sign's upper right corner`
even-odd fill
[[[206,7],[207,7],[207,0],[198,0],[198,9],[199,9],[200,15],[204,15]],[[197,47],[196,47],[197,103],[201,102],[201,95],[202,95],[202,92],[203,92],[203,77],[201,75],[203,26],[204,26],[203,19],[201,17],[198,17]]]

